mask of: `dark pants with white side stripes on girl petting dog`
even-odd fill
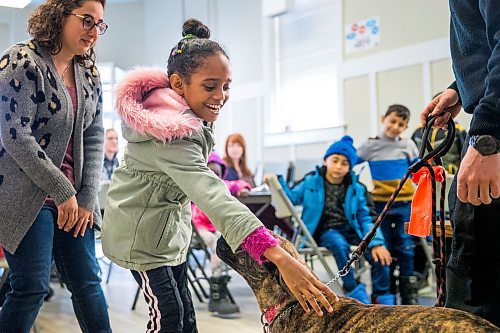
[[[148,332],[198,332],[186,263],[131,272],[148,304]]]

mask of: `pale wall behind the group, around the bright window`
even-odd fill
[[[234,76],[230,102],[216,126],[216,149],[222,151],[229,133],[242,132],[252,168],[262,162],[318,160],[344,133],[359,144],[380,130],[379,116],[389,104],[407,104],[413,127],[430,97],[453,81],[446,1],[329,0],[335,8],[330,20],[338,21],[327,36],[337,49],[331,56],[337,89],[330,96],[316,96],[312,87],[304,98],[325,98],[325,103],[338,107],[345,127],[265,135],[263,123],[275,111],[275,19],[262,16],[262,1],[267,0],[108,2],[105,20],[110,29],[98,44],[98,60],[125,69],[165,68],[184,20],[205,22],[212,37],[227,49]],[[26,22],[33,8],[0,8],[0,47],[28,37]],[[346,55],[344,26],[374,16],[380,18],[379,47]],[[460,122],[467,127],[469,119],[462,116]]]

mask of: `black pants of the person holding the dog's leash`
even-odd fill
[[[500,199],[473,206],[458,200],[456,189],[455,176],[449,193],[453,240],[445,306],[500,326]]]

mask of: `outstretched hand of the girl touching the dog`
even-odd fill
[[[264,251],[264,256],[278,267],[283,281],[285,281],[286,285],[306,313],[310,313],[310,305],[318,316],[322,316],[323,311],[321,311],[318,302],[321,303],[328,312],[333,311],[325,295],[338,301],[337,295],[319,281],[305,265],[294,259],[280,246],[273,246],[267,249]]]

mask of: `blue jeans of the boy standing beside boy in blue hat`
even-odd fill
[[[375,209],[380,214],[386,202],[375,201]],[[415,243],[413,237],[405,233],[405,222],[410,221],[411,202],[400,201],[392,204],[380,229],[391,255],[397,258],[401,276],[412,276]],[[393,226],[394,225],[394,226]]]

